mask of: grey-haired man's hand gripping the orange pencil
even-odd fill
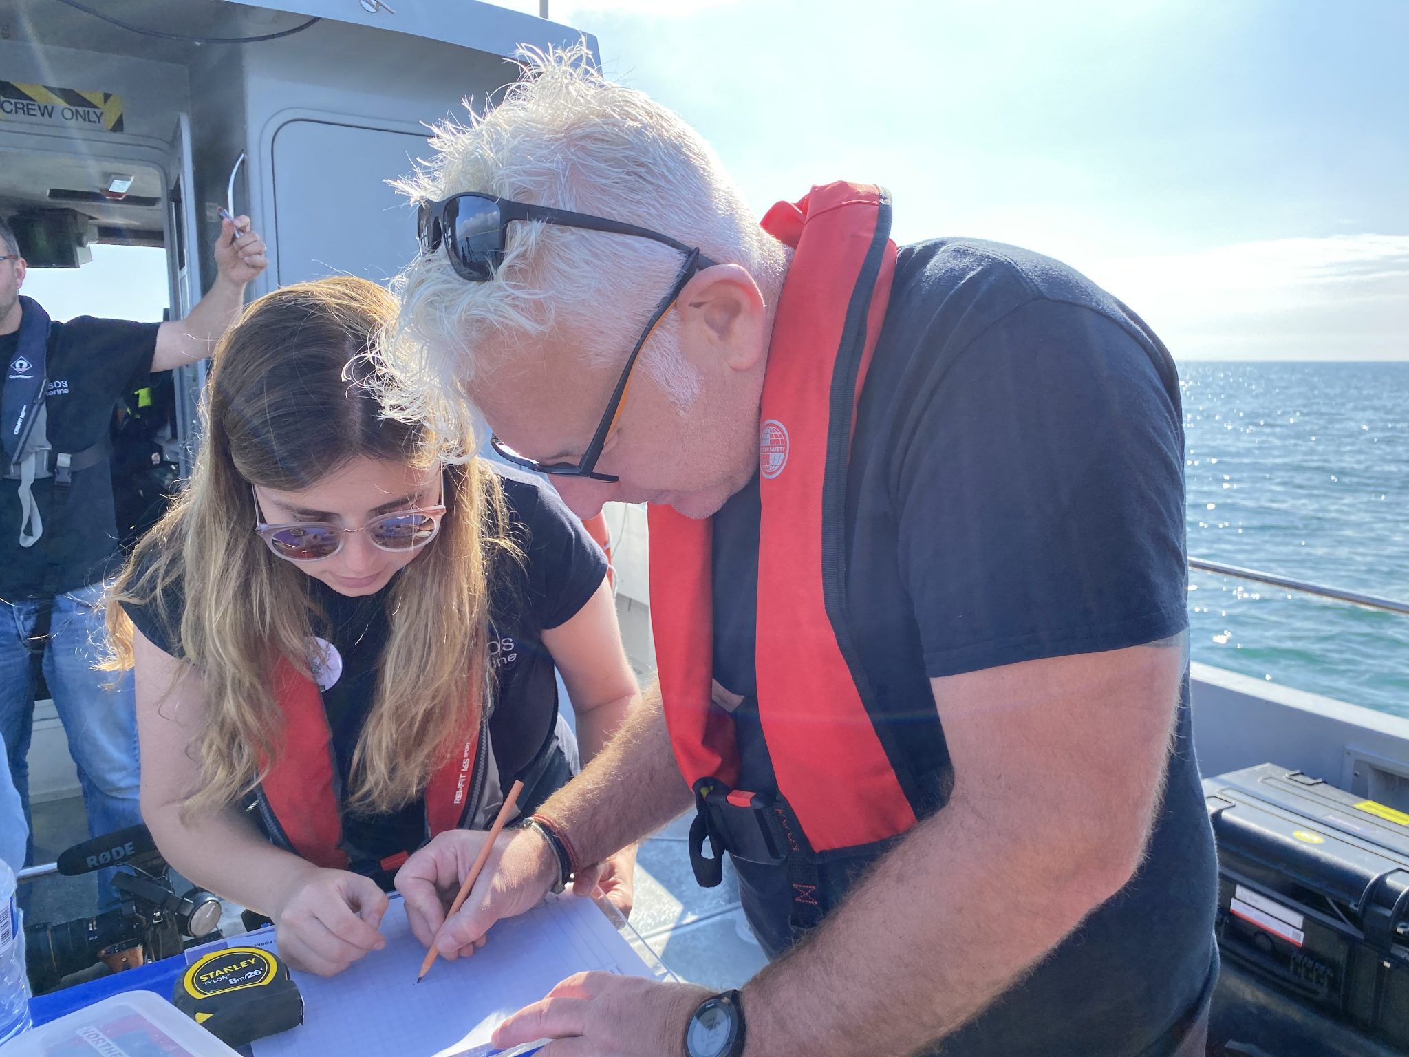
[[[558,877],[558,861],[541,836],[533,830],[500,833],[465,905],[445,920],[445,910],[488,836],[479,830],[447,830],[396,871],[396,891],[406,899],[411,932],[447,958],[483,947],[485,933],[495,922],[535,908]]]

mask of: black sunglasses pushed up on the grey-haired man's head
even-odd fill
[[[530,206],[526,202],[499,199],[480,192],[451,194],[442,202],[423,202],[416,216],[416,234],[423,254],[434,254],[444,245],[455,275],[466,282],[482,283],[493,279],[495,269],[503,264],[509,225],[516,220],[538,220],[544,224],[562,224],[586,231],[635,235],[682,254],[692,252],[692,247],[645,227],[551,206]],[[700,256],[700,268],[713,264],[709,258]]]

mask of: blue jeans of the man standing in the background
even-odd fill
[[[142,820],[137,803],[137,702],[132,674],[116,686],[110,672],[94,671],[103,629],[101,583],[58,595],[44,648],[44,679],[54,695],[69,754],[77,764],[89,833],[101,836]],[[38,602],[0,603],[0,736],[10,751],[25,820],[30,817],[30,736],[34,730],[35,675],[30,636]],[[32,843],[31,843],[32,853]],[[116,906],[111,870],[99,877],[99,906]]]

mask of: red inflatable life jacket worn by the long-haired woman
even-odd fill
[[[342,822],[337,764],[333,757],[333,733],[323,695],[317,684],[287,658],[280,657],[273,671],[275,699],[283,712],[285,727],[280,753],[269,765],[258,795],[266,809],[263,822],[273,829],[269,836],[310,863],[333,870],[349,867],[342,850]],[[473,703],[479,715],[479,703]],[[466,823],[471,808],[471,784],[479,747],[479,726],[473,727],[457,751],[447,760],[426,786],[427,836],[459,829]],[[272,813],[273,817],[269,817]],[[407,850],[410,851],[410,848]],[[380,861],[382,870],[395,870],[406,861],[406,853]]]

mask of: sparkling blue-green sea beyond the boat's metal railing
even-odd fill
[[[1409,602],[1409,362],[1179,365],[1189,555]],[[1409,616],[1189,574],[1193,660],[1409,716]]]

